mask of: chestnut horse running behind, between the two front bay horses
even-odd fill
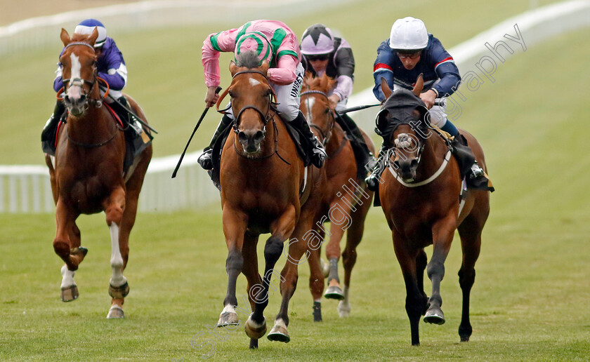
[[[336,123],[336,114],[330,108],[328,93],[335,85],[336,80],[327,74],[314,77],[308,72],[303,79],[300,109],[310,123],[310,127],[319,133],[320,141],[325,145],[327,152],[324,166],[327,182],[325,189],[322,190],[321,218],[318,220],[319,223],[314,223],[322,240],[326,233],[329,235],[329,243],[326,246],[326,257],[329,260],[327,275],[329,286],[325,297],[340,300],[339,316],[348,316],[350,315],[350,276],[357,258],[356,248],[365,231],[365,218],[371,207],[373,192],[367,189],[364,179],[358,179],[358,166],[353,147],[344,130]],[[372,140],[364,132],[362,135],[369,150],[374,152]],[[336,213],[336,210],[339,213]],[[337,217],[339,216],[337,214],[342,214],[348,222],[339,222],[343,218]],[[332,220],[329,216],[336,216],[338,220]],[[327,221],[332,221],[329,232],[320,227]],[[341,254],[340,241],[344,232],[346,232],[346,248]],[[338,276],[338,261],[341,255],[344,266],[343,289],[340,288]],[[310,290],[314,298],[314,321],[321,321],[321,297],[324,285],[323,276],[318,275],[314,267],[317,258],[319,258],[319,250],[310,257]]]

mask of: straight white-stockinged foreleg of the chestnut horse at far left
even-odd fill
[[[129,249],[127,246],[121,248],[121,234],[123,224],[123,213],[126,208],[125,190],[117,187],[103,203],[106,221],[111,237],[111,258],[110,264],[112,275],[109,281],[109,295],[112,297],[111,308],[107,318],[123,318],[124,297],[129,294],[129,284],[123,275],[125,260]],[[125,258],[124,258],[125,255]]]

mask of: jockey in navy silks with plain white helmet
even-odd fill
[[[430,125],[454,137],[454,154],[460,162],[466,163],[466,167],[471,167],[471,172],[466,175],[468,185],[487,186],[487,177],[467,145],[467,140],[447,119],[445,105],[435,105],[436,100],[452,95],[459,88],[461,76],[457,65],[442,43],[432,34],[428,34],[422,20],[412,17],[395,20],[391,27],[391,36],[377,48],[373,67],[373,93],[378,100],[385,100],[381,91],[381,79],[385,79],[393,91],[399,88],[412,90],[419,74],[424,76],[424,89],[420,98],[429,109]],[[367,186],[373,191],[379,188],[379,177],[385,168],[384,150],[385,145],[381,145],[376,166],[366,179]]]

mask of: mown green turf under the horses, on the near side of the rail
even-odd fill
[[[196,346],[213,341],[213,361],[586,360],[590,156],[582,150],[589,112],[576,89],[590,81],[581,61],[590,50],[575,44],[587,36],[586,29],[530,48],[498,68],[496,83],[468,94],[458,123],[487,150],[497,187],[476,265],[470,342],[459,343],[457,335],[461,256],[455,243],[441,290],[447,323],[421,323],[421,346],[410,346],[405,288],[379,208],[369,213],[358,249],[348,319],[338,317],[336,302],[324,300],[324,322],[313,323],[303,264],[289,306],[289,344],[263,338],[258,350],[249,351],[242,328],[216,340],[209,328],[223,307],[227,250],[221,212],[212,206],[138,215],[122,321],[105,319],[111,271],[103,215],[79,219],[90,251],[76,275],[79,300],[67,304],[59,300],[62,263],[51,247],[53,215],[1,215],[0,360],[198,361],[209,349],[194,349],[193,337]],[[571,46],[568,57],[554,51],[563,44]],[[284,257],[277,267],[282,265]],[[245,288],[241,276],[242,305]],[[279,302],[278,293],[271,293],[269,324]]]

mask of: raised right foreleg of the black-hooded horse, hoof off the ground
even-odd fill
[[[435,222],[432,227],[433,253],[431,261],[426,266],[426,273],[432,282],[432,293],[428,299],[428,310],[424,314],[427,323],[445,323],[445,314],[442,313],[442,297],[440,296],[440,282],[445,276],[445,260],[451,248],[455,223],[454,216]]]

